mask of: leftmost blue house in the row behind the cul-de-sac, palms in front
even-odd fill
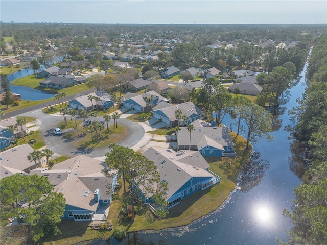
[[[95,101],[94,99],[91,101],[88,99],[88,96],[95,96],[99,97],[100,100]],[[97,108],[98,110],[105,110],[113,106],[113,100],[111,99],[111,96],[104,90],[99,92],[90,93],[88,95],[85,94],[77,94],[75,98],[71,101],[68,101],[68,106],[79,110],[84,109],[86,111],[92,110]]]

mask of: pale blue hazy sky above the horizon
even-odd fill
[[[3,22],[327,24],[326,0],[0,0]]]

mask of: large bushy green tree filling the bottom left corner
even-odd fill
[[[0,180],[1,214],[24,217],[30,224],[31,236],[38,241],[44,236],[61,234],[57,224],[65,210],[65,198],[54,191],[48,178],[15,174]],[[26,202],[25,207],[21,204]],[[11,208],[10,208],[11,207]]]

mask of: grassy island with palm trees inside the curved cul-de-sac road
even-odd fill
[[[74,134],[67,135],[65,138],[66,140],[75,139],[74,142],[72,142],[72,145],[78,148],[99,148],[123,140],[128,135],[128,129],[125,126],[118,125],[116,130],[114,130],[114,126],[111,125],[109,127],[109,132],[106,128],[101,132],[101,140],[99,132],[98,137],[96,136],[96,132],[93,132],[92,134],[93,141],[91,133],[85,132],[85,130],[80,130]]]

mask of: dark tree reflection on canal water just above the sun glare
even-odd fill
[[[259,158],[260,152],[253,152],[249,162],[244,165],[239,183],[242,192],[248,192],[254,186],[259,185],[265,176],[269,163],[267,160]]]

